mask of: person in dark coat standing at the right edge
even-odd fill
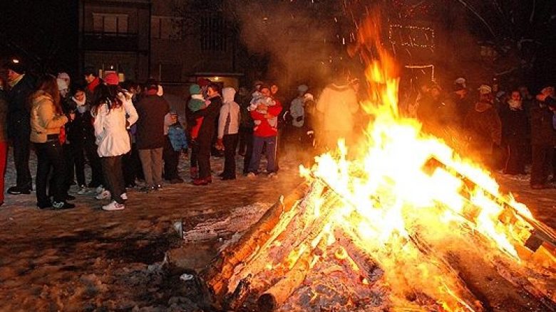
[[[531,106],[532,166],[530,185],[533,189],[546,188],[552,166],[555,145],[553,125],[556,100],[554,87],[545,87],[533,100]]]

